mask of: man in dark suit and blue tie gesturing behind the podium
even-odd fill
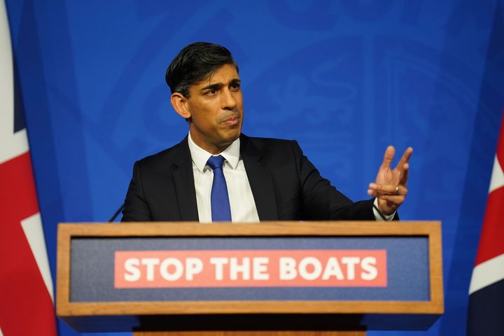
[[[135,162],[123,221],[391,220],[407,194],[407,148],[389,146],[368,194],[351,202],[323,179],[296,141],[241,134],[238,66],[221,45],[187,45],[166,80],[189,125],[180,144]]]

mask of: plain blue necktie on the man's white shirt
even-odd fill
[[[231,221],[228,186],[225,183],[223,164],[224,158],[221,155],[211,156],[207,161],[207,165],[214,171],[214,183],[212,183],[210,197],[212,222]]]

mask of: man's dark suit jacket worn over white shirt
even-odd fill
[[[260,221],[374,221],[373,200],[351,202],[323,179],[296,141],[240,137]],[[188,138],[135,162],[123,221],[198,221]]]

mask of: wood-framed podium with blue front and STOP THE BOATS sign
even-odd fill
[[[64,223],[57,244],[78,332],[363,336],[444,310],[439,222]]]

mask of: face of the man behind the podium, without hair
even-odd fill
[[[186,108],[195,144],[210,153],[221,153],[241,134],[243,98],[235,66],[225,64],[209,78],[189,88]]]

